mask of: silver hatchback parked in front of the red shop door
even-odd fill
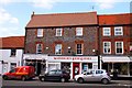
[[[89,69],[84,74],[75,76],[75,81],[80,84],[84,81],[101,81],[102,84],[108,84],[111,78],[105,69]]]

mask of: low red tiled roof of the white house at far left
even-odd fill
[[[24,48],[24,36],[0,37],[0,48]]]

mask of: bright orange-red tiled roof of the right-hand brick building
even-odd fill
[[[131,18],[130,13],[98,15],[100,25],[132,24]]]

